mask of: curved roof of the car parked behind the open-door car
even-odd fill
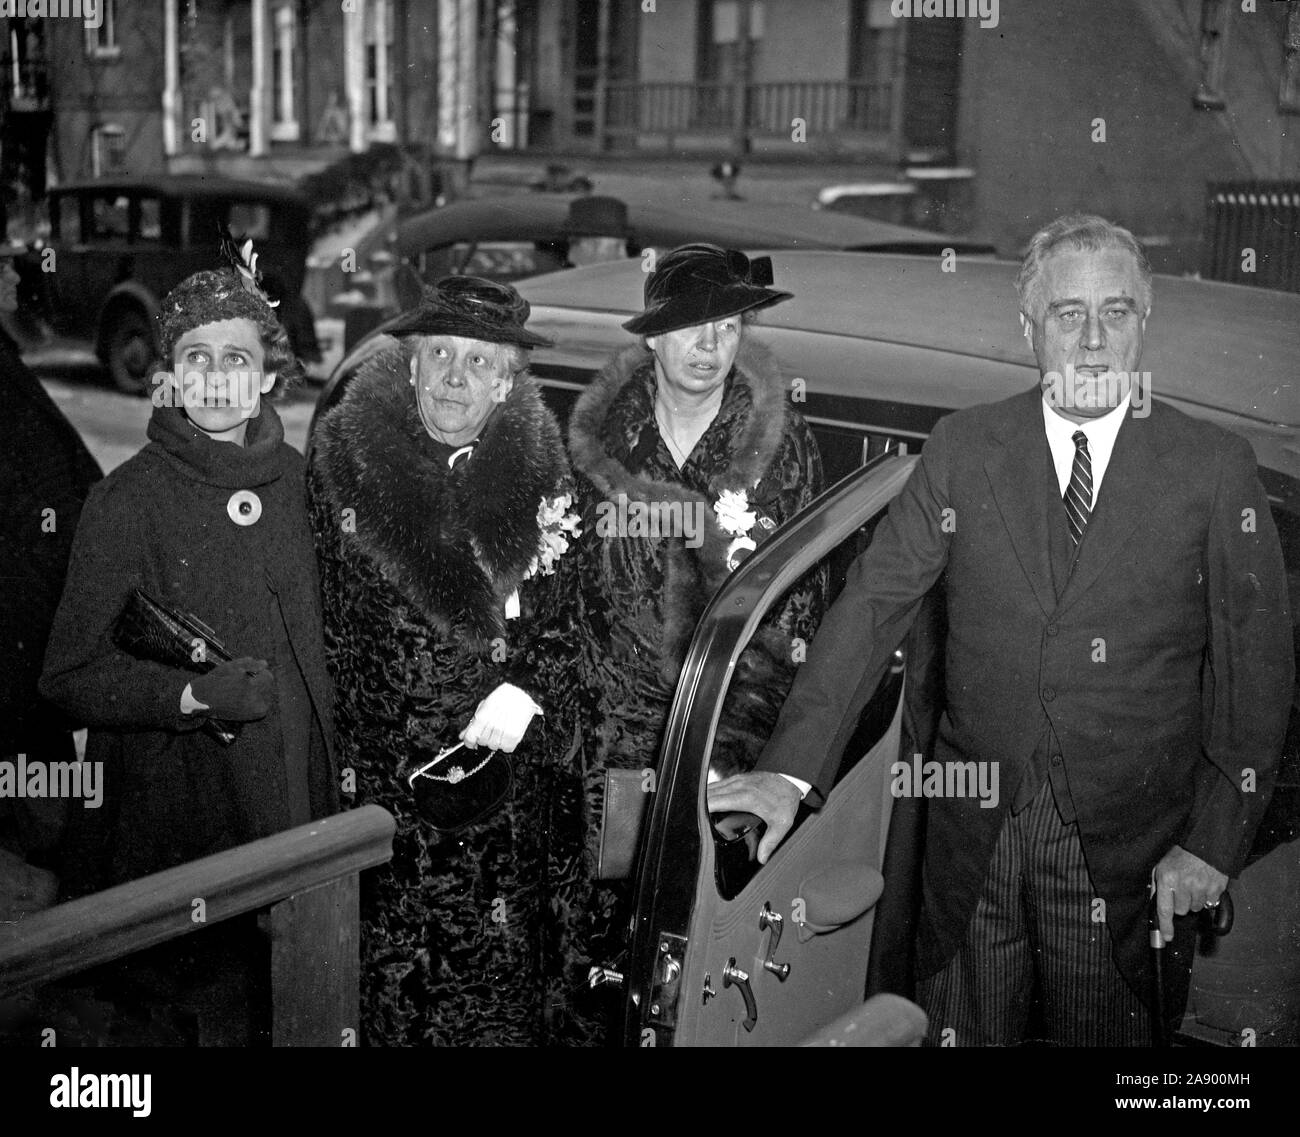
[[[394,252],[412,256],[458,240],[562,240],[573,195],[517,194],[452,201],[400,222]],[[942,233],[767,201],[628,201],[644,247],[708,240],[728,248],[906,249],[989,253],[992,247]]]

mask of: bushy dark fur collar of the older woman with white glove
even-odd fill
[[[313,464],[355,541],[434,626],[476,639],[504,630],[502,602],[540,541],[537,507],[568,478],[555,417],[515,378],[468,461],[447,468],[420,422],[406,353],[368,360],[316,431]]]

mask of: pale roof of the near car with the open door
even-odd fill
[[[958,257],[954,270],[945,272],[937,257],[771,255],[776,286],[794,299],[766,309],[764,327],[1034,366],[1017,318],[1019,266],[1011,261]],[[632,259],[549,273],[515,287],[534,309],[623,316],[641,309],[644,282],[641,261]],[[1300,426],[1300,295],[1156,277],[1140,366],[1150,372],[1157,398]],[[942,376],[935,378],[944,382]],[[853,394],[850,382],[845,376],[841,394]],[[989,391],[972,402],[1002,394]]]

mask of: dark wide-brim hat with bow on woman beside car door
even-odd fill
[[[646,278],[645,309],[623,326],[634,335],[660,335],[780,304],[794,295],[771,283],[771,257],[750,260],[716,244],[684,244],[659,257]]]

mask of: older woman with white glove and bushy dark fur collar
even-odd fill
[[[584,834],[549,574],[569,476],[524,370],[524,348],[546,343],[526,317],[514,288],[441,281],[313,438],[343,789],[396,819],[393,860],[361,877],[369,1045],[547,1038]],[[412,781],[458,737],[477,748]]]

